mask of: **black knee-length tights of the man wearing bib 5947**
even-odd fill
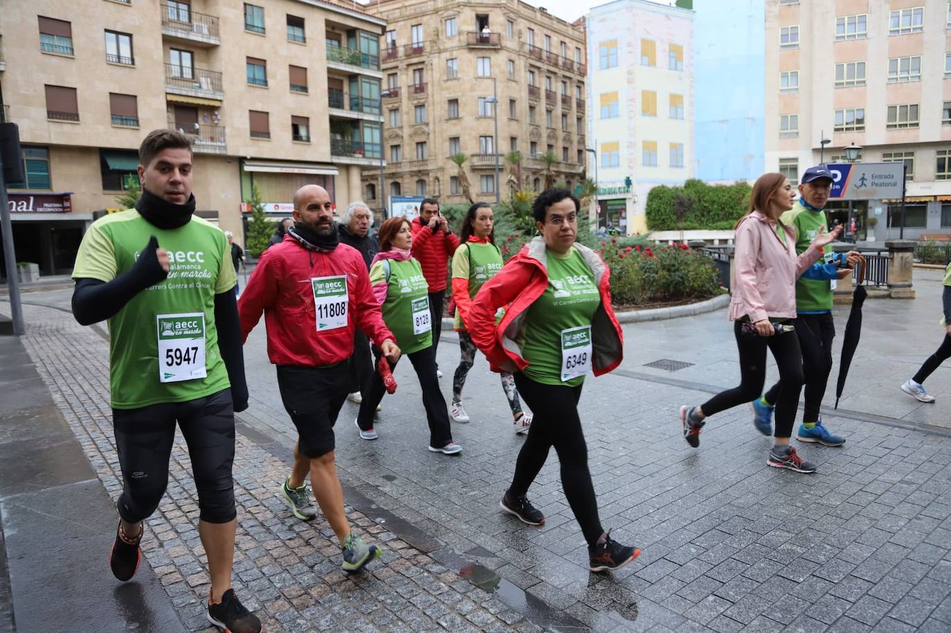
[[[235,418],[230,389],[188,402],[112,410],[123,479],[122,494],[116,502],[119,516],[128,523],[138,523],[158,508],[168,485],[176,421],[188,444],[202,521],[231,521],[237,513],[231,480]]]

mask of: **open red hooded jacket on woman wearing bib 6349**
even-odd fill
[[[594,274],[601,305],[592,317],[592,368],[594,375],[607,374],[624,357],[624,334],[611,308],[611,270],[597,253],[587,246],[574,244]],[[469,336],[489,359],[492,371],[501,372],[501,365],[511,360],[519,370],[529,363],[515,343],[518,329],[525,320],[529,306],[548,287],[548,256],[545,240],[534,238],[518,254],[509,259],[502,270],[479,289],[469,313]],[[506,307],[505,316],[495,325],[495,311]],[[553,345],[559,344],[552,341]]]

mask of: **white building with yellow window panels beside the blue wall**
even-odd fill
[[[598,225],[647,231],[658,184],[693,177],[693,10],[616,0],[587,16]]]

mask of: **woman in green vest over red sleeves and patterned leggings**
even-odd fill
[[[462,407],[462,387],[466,384],[466,375],[476,360],[476,343],[466,332],[466,321],[472,310],[473,297],[479,288],[495,273],[502,270],[502,254],[495,246],[494,217],[492,207],[485,202],[476,202],[469,207],[460,232],[462,245],[453,255],[453,300],[456,303],[455,329],[459,335],[461,357],[453,376],[453,407],[451,414],[456,422],[468,422],[469,413]],[[515,379],[509,372],[502,372],[502,391],[509,401],[515,432],[524,435],[529,432],[532,416],[522,412],[518,401],[518,389]]]

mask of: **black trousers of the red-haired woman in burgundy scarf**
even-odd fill
[[[380,352],[373,348],[376,362],[379,362]],[[446,399],[439,390],[439,379],[436,376],[436,348],[427,347],[413,354],[407,354],[422,388],[422,406],[426,410],[426,421],[429,422],[429,445],[434,449],[441,449],[453,441],[453,432],[449,428],[449,412],[446,411]],[[375,365],[376,366],[376,365]],[[397,371],[397,363],[390,363],[390,370]],[[379,372],[370,374],[363,385],[363,401],[359,405],[357,425],[363,431],[373,429],[373,414],[377,411],[379,401],[383,399],[386,388]]]

